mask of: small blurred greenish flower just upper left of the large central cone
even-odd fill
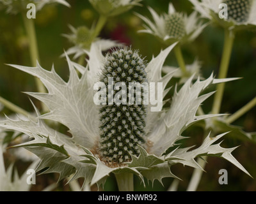
[[[73,47],[68,48],[65,52],[67,55],[74,55],[74,59],[77,59],[81,55],[87,54],[90,50],[90,46],[92,42],[101,47],[102,51],[109,50],[113,47],[122,46],[121,43],[116,43],[113,40],[104,40],[96,38],[93,39],[93,29],[88,29],[86,26],[78,27],[77,29],[72,25],[68,26],[72,31],[71,34],[63,34],[65,38],[67,38],[72,44]],[[61,55],[61,57],[65,57],[65,53]]]

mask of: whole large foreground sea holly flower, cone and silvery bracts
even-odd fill
[[[132,179],[131,175],[138,176],[143,183],[144,178],[161,182],[164,177],[175,177],[170,171],[173,164],[200,168],[195,157],[204,155],[223,157],[248,173],[232,156],[234,148],[224,149],[220,143],[216,143],[225,133],[213,138],[207,136],[202,145],[193,150],[176,145],[184,138],[182,132],[198,120],[220,116],[196,115],[201,103],[213,94],[201,93],[212,84],[232,79],[214,79],[211,75],[206,80],[198,78],[193,82],[191,77],[179,90],[176,88],[171,106],[164,109],[161,106],[159,112],[152,112],[151,108],[155,105],[150,103],[112,103],[112,94],[116,96],[114,101],[124,102],[119,97],[124,94],[120,89],[108,89],[108,103],[103,104],[103,95],[100,103],[95,103],[95,94],[104,92],[109,79],[112,81],[108,85],[122,81],[124,84],[134,81],[160,83],[163,89],[157,89],[155,93],[165,97],[170,90],[166,85],[174,73],[164,77],[161,73],[164,61],[175,45],[161,51],[146,64],[139,52],[131,48],[117,48],[104,57],[100,48],[92,43],[86,68],[70,61],[67,56],[70,71],[68,82],[54,68],[47,71],[39,64],[36,67],[12,65],[40,78],[48,93],[28,94],[44,102],[50,112],[40,115],[35,108],[38,114],[36,120],[12,120],[6,117],[0,122],[0,127],[20,131],[33,138],[17,147],[25,147],[40,157],[38,171],[58,172],[60,179],[72,175],[70,181],[83,177],[84,185],[104,184],[109,174],[114,173],[119,189],[131,190],[128,185],[131,182],[127,182]],[[78,77],[76,69],[81,77]],[[95,84],[102,85],[102,89],[96,93]],[[155,98],[157,94],[149,98]],[[50,128],[44,119],[67,126],[72,137]],[[174,147],[172,152],[168,151],[170,147]]]

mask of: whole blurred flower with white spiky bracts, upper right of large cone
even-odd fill
[[[153,21],[143,15],[137,14],[146,24],[144,25],[146,29],[140,32],[153,34],[164,41],[179,40],[180,43],[193,41],[202,33],[207,25],[199,21],[196,12],[188,16],[186,13],[175,11],[172,3],[169,4],[168,13],[164,13],[163,15],[158,15],[150,7],[148,10],[153,17]]]

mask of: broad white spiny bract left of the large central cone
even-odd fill
[[[74,141],[84,147],[93,147],[97,139],[95,129],[98,128],[96,122],[98,120],[97,108],[93,103],[93,91],[87,81],[86,73],[88,72],[78,78],[76,69],[68,57],[67,61],[70,69],[70,78],[67,83],[56,74],[54,69],[47,71],[39,64],[36,68],[12,66],[40,78],[49,91],[49,93],[28,93],[44,102],[51,111],[41,115],[40,118],[61,122],[70,129]],[[92,117],[94,117],[93,120]]]

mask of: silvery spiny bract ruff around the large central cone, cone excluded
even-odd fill
[[[164,61],[171,50],[171,45],[161,51],[157,57],[148,62],[145,71],[149,82],[163,82],[163,96],[169,89],[167,83],[174,73],[161,76]],[[196,115],[198,107],[214,92],[201,94],[212,84],[228,82],[232,79],[214,79],[211,77],[193,82],[193,77],[180,88],[175,90],[172,105],[161,112],[148,112],[146,146],[138,146],[140,154],[131,155],[131,161],[121,163],[115,167],[108,166],[100,160],[99,148],[99,106],[93,103],[93,85],[99,80],[99,73],[103,66],[104,56],[94,43],[88,53],[88,66],[84,68],[67,57],[70,78],[65,82],[52,68],[47,71],[38,64],[35,68],[12,65],[35,77],[40,78],[48,93],[28,92],[29,96],[44,102],[50,112],[40,115],[38,110],[37,120],[9,119],[0,122],[4,129],[20,131],[29,135],[33,140],[17,145],[26,147],[38,157],[41,162],[37,170],[44,173],[58,172],[60,179],[72,175],[70,181],[84,178],[84,185],[104,184],[110,173],[133,173],[144,183],[144,179],[161,180],[164,177],[175,177],[170,171],[170,166],[177,163],[200,168],[195,157],[210,155],[220,156],[238,168],[248,173],[241,164],[232,156],[232,149],[224,149],[216,143],[223,135],[214,138],[207,136],[200,147],[194,150],[180,148],[176,142],[183,139],[182,132],[197,122],[218,115]],[[77,70],[81,78],[77,75]],[[58,121],[67,126],[72,138],[50,128],[44,119]],[[166,152],[170,147],[175,147],[172,152]],[[248,173],[249,174],[249,173]]]

